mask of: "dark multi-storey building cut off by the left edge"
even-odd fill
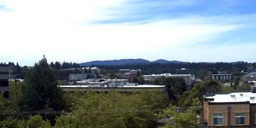
[[[9,66],[0,66],[0,92],[5,92],[5,97],[8,97],[9,93]]]

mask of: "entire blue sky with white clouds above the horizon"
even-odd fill
[[[0,61],[256,61],[254,0],[0,0]]]

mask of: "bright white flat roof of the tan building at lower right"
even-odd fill
[[[254,98],[253,98],[254,97]],[[231,92],[231,93],[220,93],[220,94],[207,94],[204,95],[204,99],[208,102],[246,102],[256,103],[256,93],[252,92]]]

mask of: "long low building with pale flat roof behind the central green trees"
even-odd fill
[[[110,91],[119,91],[119,92],[136,92],[136,91],[145,91],[145,90],[159,90],[161,92],[166,92],[165,86],[156,86],[156,85],[139,85],[139,86],[124,86],[124,87],[99,87],[95,85],[72,85],[72,86],[58,86],[63,91],[96,91],[96,92],[110,92]]]

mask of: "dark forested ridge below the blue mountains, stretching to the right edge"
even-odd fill
[[[141,69],[143,74],[175,74],[176,69],[187,68],[192,74],[203,77],[207,72],[217,74],[218,71],[225,71],[235,75],[241,75],[241,71],[250,72],[256,68],[256,63],[248,62],[187,62],[187,63],[144,63],[140,65],[119,65],[119,66],[97,66],[105,70],[118,69]]]

